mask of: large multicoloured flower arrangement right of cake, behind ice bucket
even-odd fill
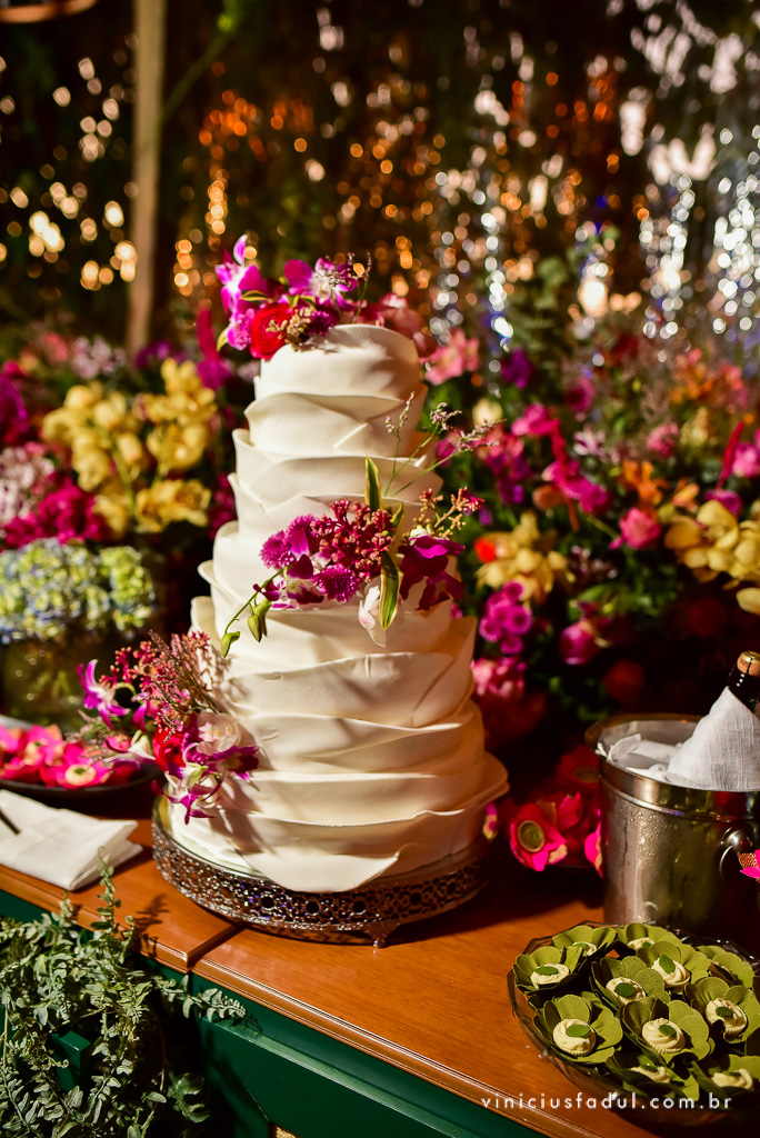
[[[485,502],[461,568],[491,747],[550,719],[570,748],[616,710],[705,711],[760,642],[750,378],[618,324],[559,368],[499,349],[495,372],[456,331],[429,366],[436,398],[487,428],[444,477]]]

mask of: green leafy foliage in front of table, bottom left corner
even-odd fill
[[[208,1116],[201,1079],[173,1070],[171,1014],[241,1017],[217,990],[192,996],[133,951],[116,923],[113,869],[102,867],[100,920],[57,916],[0,924],[0,1132],[5,1138],[183,1138]]]

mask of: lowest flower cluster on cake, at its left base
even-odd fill
[[[96,712],[81,739],[106,766],[157,762],[165,776],[154,790],[185,808],[185,820],[206,814],[225,778],[247,780],[257,749],[222,711],[214,691],[224,662],[204,633],[173,635],[116,653],[96,676],[97,661],[80,666],[84,707]]]

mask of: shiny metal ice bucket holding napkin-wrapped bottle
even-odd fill
[[[679,743],[697,717],[619,716],[594,724],[587,745],[601,757],[604,918],[669,924],[760,949],[757,883],[737,853],[760,848],[760,791],[707,791],[634,774],[609,760],[628,735]]]

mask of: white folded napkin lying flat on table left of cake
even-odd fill
[[[121,865],[142,849],[127,841],[137,822],[104,822],[74,810],[42,806],[0,790],[0,864],[60,889],[83,889],[100,875],[99,855]]]

